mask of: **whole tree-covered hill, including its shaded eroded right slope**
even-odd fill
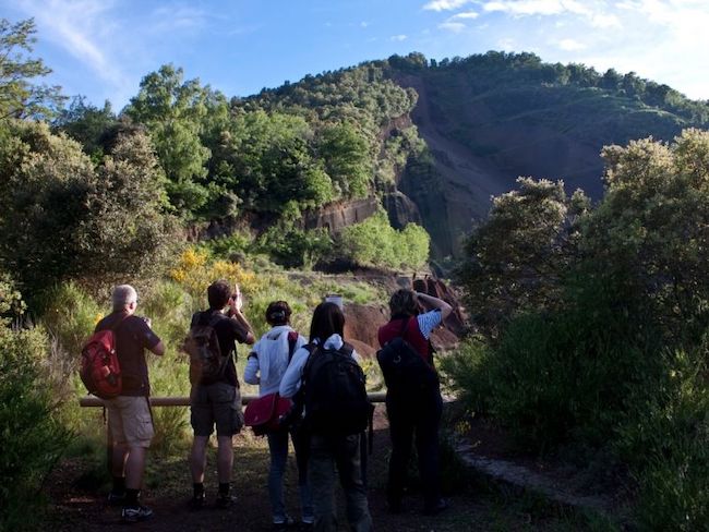
[[[100,158],[106,131],[128,121],[149,133],[170,206],[190,223],[219,220],[217,232],[277,223],[320,255],[322,239],[308,230],[338,232],[380,204],[396,229],[422,222],[443,257],[459,253],[491,195],[517,177],[563,179],[598,200],[604,145],[672,140],[706,125],[709,106],[633,73],[601,75],[531,53],[440,62],[411,53],[247,98],[166,65],[120,116],[74,100],[56,128]],[[364,208],[347,210],[363,198]],[[333,205],[343,213],[326,221]]]

